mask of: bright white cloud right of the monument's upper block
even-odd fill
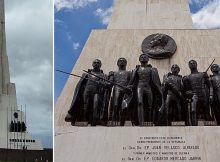
[[[220,28],[220,0],[214,0],[192,15],[196,28]]]

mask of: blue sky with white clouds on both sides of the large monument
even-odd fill
[[[71,72],[92,29],[105,29],[113,0],[55,0],[55,69]],[[220,27],[220,0],[189,0],[195,28]],[[55,72],[55,102],[68,76]]]

